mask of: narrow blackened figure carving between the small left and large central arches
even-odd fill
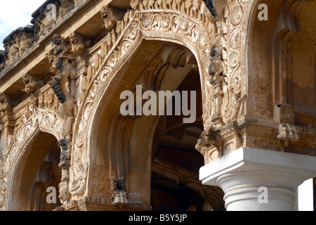
[[[69,167],[71,166],[71,139],[76,108],[75,79],[77,78],[77,70],[75,56],[71,53],[71,46],[66,44],[66,41],[59,34],[54,35],[53,44],[54,49],[47,54],[47,57],[52,65],[51,72],[54,72],[56,75],[52,77],[49,85],[63,105],[61,116],[66,120],[66,131],[62,134],[63,140],[59,142],[62,148],[61,163],[59,164],[59,167],[62,169],[59,198],[61,203],[67,203],[71,198]]]

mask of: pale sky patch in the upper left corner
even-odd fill
[[[45,0],[0,0],[0,50],[4,50],[2,42],[18,27],[31,25],[34,13]]]

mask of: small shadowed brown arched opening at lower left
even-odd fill
[[[59,143],[51,134],[39,132],[26,148],[14,173],[9,210],[55,210],[61,205]]]

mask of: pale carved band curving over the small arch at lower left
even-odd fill
[[[6,187],[6,196],[1,196],[1,198],[5,199],[3,201],[4,205],[1,207],[4,207],[5,210],[27,209],[25,208],[25,205],[15,205],[18,203],[18,199],[24,199],[23,196],[22,198],[19,196],[19,190],[15,188],[18,186],[16,184],[20,184],[20,182],[23,181],[23,177],[20,176],[22,175],[23,169],[25,169],[22,167],[25,165],[26,158],[28,158],[30,154],[34,154],[28,152],[28,148],[32,145],[34,140],[38,139],[38,136],[42,136],[44,139],[47,137],[49,140],[60,141],[62,139],[61,131],[63,130],[62,121],[63,120],[54,113],[35,109],[35,113],[33,113],[30,119],[25,122],[23,127],[20,128],[14,139],[11,141],[8,150],[5,151],[3,165],[1,165],[3,168],[1,177],[5,183],[4,186]],[[44,143],[44,146],[45,144],[46,143]],[[44,154],[44,152],[42,154]],[[44,155],[42,156],[44,157]],[[42,158],[40,160],[42,160]]]

